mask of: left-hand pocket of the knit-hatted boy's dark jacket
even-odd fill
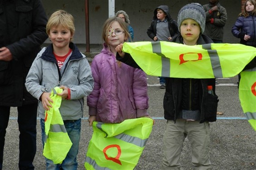
[[[164,115],[173,117],[174,114],[175,109],[173,95],[166,91],[164,94]]]

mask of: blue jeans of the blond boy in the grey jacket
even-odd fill
[[[42,129],[42,142],[44,146],[44,141],[45,141],[44,119],[41,119],[40,122],[41,122],[41,129]],[[45,158],[47,170],[77,170],[77,154],[78,154],[78,146],[80,141],[81,119],[66,120],[63,122],[68,132],[68,136],[72,142],[72,146],[68,151],[68,154],[66,158],[63,160],[62,164],[53,164],[53,161]]]

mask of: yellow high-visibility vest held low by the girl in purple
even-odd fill
[[[127,119],[122,123],[93,122],[87,149],[87,170],[133,170],[152,131],[151,118]]]

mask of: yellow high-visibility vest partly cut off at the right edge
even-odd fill
[[[248,122],[256,131],[256,67],[241,72],[239,99]]]

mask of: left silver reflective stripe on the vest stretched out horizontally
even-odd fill
[[[157,55],[161,56],[161,61],[162,61],[162,73],[161,75],[163,77],[170,77],[170,59],[165,57],[164,54],[162,54],[161,51],[161,44],[159,41],[156,42],[151,42],[152,44],[152,51],[156,53]]]

